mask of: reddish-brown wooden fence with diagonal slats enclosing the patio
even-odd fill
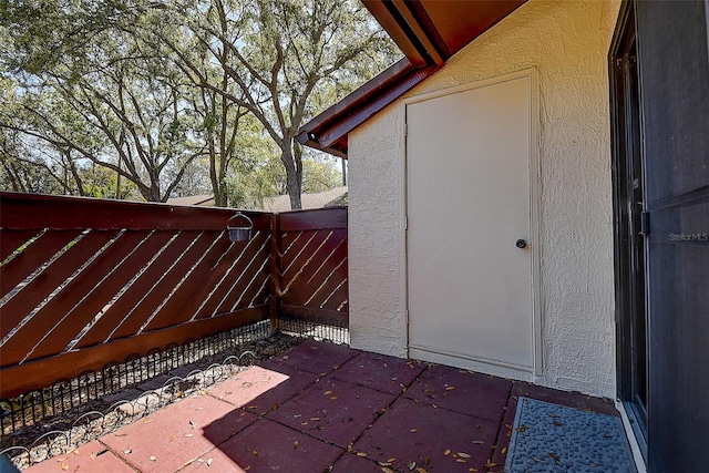
[[[0,399],[282,309],[346,323],[346,209],[248,212],[233,243],[234,214],[0,193]]]

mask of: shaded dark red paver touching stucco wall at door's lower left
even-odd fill
[[[421,361],[360,353],[333,371],[331,377],[390,394],[401,394],[425,368],[427,364]]]

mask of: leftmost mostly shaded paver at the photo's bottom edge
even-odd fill
[[[342,453],[337,446],[320,442],[277,422],[261,419],[219,446],[233,462],[249,472],[287,471],[318,473]],[[225,471],[213,470],[210,471]],[[233,470],[226,470],[233,471]]]

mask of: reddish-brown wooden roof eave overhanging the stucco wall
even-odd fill
[[[405,54],[299,131],[298,141],[347,157],[347,135],[419,84],[527,0],[362,0]]]

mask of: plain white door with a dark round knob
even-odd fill
[[[407,105],[413,358],[535,370],[533,79]]]

